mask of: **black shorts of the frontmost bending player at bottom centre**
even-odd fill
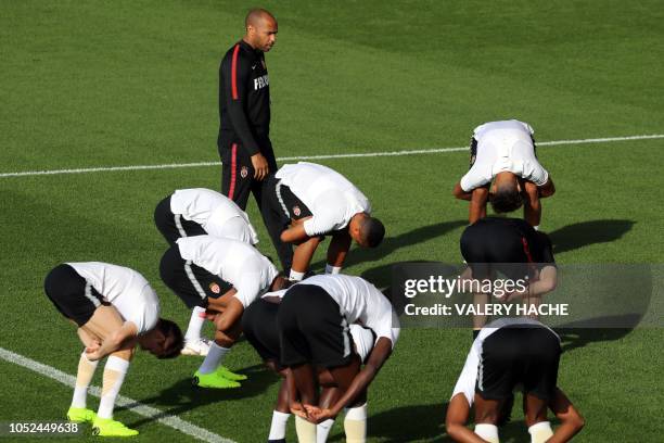
[[[289,289],[277,327],[282,366],[311,363],[332,368],[347,365],[353,357],[348,321],[321,287],[298,283]]]

